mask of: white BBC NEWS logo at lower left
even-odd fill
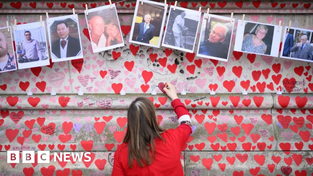
[[[77,160],[81,162],[91,161],[90,152],[54,152],[54,162],[71,161],[69,158],[72,156],[74,162]],[[35,163],[35,151],[22,151],[22,163]],[[7,163],[19,163],[20,162],[20,151],[7,151]],[[38,163],[50,163],[50,151],[37,151],[37,162]]]

